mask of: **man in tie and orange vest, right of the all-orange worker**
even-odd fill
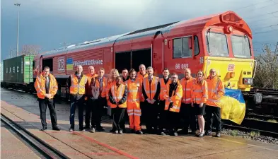
[[[158,133],[158,102],[161,86],[159,78],[154,76],[154,69],[149,66],[147,69],[148,77],[143,78],[142,93],[146,106],[146,133]]]

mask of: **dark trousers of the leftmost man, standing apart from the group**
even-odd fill
[[[57,126],[57,114],[54,107],[54,100],[52,99],[38,99],[40,106],[40,121],[42,122],[42,127],[47,127],[46,122],[46,109],[50,110],[51,124],[52,128]]]

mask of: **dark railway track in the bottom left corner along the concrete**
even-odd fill
[[[6,117],[4,114],[1,113],[1,122],[4,122],[7,126],[11,127],[11,129],[22,137],[22,139],[28,142],[33,148],[35,148],[39,153],[41,153],[45,158],[63,158],[69,159],[66,155],[58,151],[56,148],[53,148],[49,144],[45,143],[41,139],[37,138],[29,131],[24,129],[16,122],[13,122],[11,119]]]

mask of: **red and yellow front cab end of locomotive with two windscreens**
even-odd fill
[[[205,75],[214,68],[226,88],[250,91],[256,63],[248,25],[229,11],[212,18],[202,35]]]

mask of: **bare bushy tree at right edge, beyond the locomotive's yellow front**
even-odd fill
[[[268,45],[262,49],[263,53],[255,57],[257,71],[254,86],[259,88],[278,88],[278,54],[272,52]]]

